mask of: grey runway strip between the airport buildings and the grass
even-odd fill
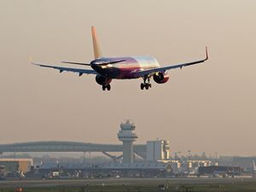
[[[55,179],[0,181],[0,188],[41,188],[54,186],[83,185],[158,185],[158,184],[201,184],[201,183],[256,183],[256,178],[93,178],[93,179]]]

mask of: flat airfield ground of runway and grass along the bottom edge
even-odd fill
[[[183,192],[256,192],[255,178],[176,178],[176,179],[92,179],[92,180],[51,180],[51,181],[17,181],[1,182],[0,192],[14,192],[22,187],[26,192],[90,192],[90,191],[166,191]]]

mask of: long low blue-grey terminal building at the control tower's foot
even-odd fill
[[[168,177],[172,175],[172,166],[166,163],[106,163],[83,165],[42,165],[38,173],[44,177]]]

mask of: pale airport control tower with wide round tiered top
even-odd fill
[[[123,142],[123,163],[133,162],[133,142],[137,140],[135,125],[129,119],[120,124],[119,140]]]

